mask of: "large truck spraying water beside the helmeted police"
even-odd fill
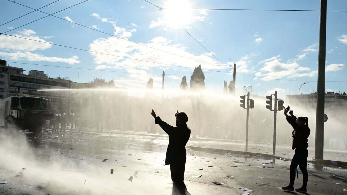
[[[42,132],[46,120],[52,120],[49,100],[27,94],[10,96],[0,101],[0,127],[28,129],[32,135]]]

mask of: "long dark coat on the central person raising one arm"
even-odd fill
[[[160,117],[155,118],[155,124],[158,124],[169,135],[165,164],[186,163],[186,144],[191,136],[191,130],[187,124],[173,127],[162,121]]]

